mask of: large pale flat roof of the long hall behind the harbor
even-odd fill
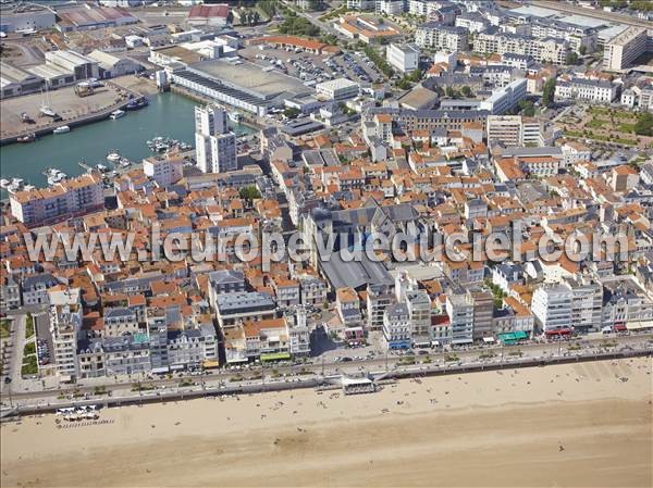
[[[283,92],[295,96],[312,92],[300,79],[274,71],[263,72],[262,66],[249,61],[238,60],[237,63],[233,63],[225,60],[207,60],[194,63],[190,67],[234,88],[250,90],[266,98]]]

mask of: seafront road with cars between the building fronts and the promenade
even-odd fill
[[[578,346],[577,346],[578,345]],[[576,349],[576,348],[579,349]],[[56,403],[62,400],[72,400],[74,398],[84,398],[85,393],[89,398],[96,398],[100,401],[104,393],[96,396],[99,389],[110,392],[112,398],[123,398],[134,395],[134,385],[147,385],[150,390],[157,389],[163,391],[192,391],[193,388],[201,385],[206,388],[220,388],[230,386],[256,386],[275,378],[281,381],[293,381],[301,378],[308,379],[315,375],[357,375],[367,373],[396,372],[402,368],[410,367],[452,367],[473,364],[484,364],[488,367],[503,364],[504,362],[515,362],[517,360],[554,360],[566,359],[574,355],[588,355],[601,351],[629,351],[629,350],[650,350],[653,351],[653,334],[638,334],[620,337],[595,337],[578,338],[571,341],[559,342],[532,342],[519,346],[493,346],[493,347],[473,347],[460,349],[454,352],[435,352],[428,354],[418,354],[415,356],[402,356],[394,354],[377,355],[373,359],[353,360],[349,362],[320,362],[321,358],[313,358],[312,363],[296,364],[285,366],[268,365],[266,367],[254,366],[234,370],[220,370],[212,373],[206,373],[199,376],[183,376],[169,378],[149,379],[144,376],[132,375],[121,378],[119,383],[109,380],[109,378],[83,379],[75,386],[50,386],[42,389],[41,381],[32,381],[32,388],[27,390],[12,389],[13,404],[32,404],[35,401],[44,403]],[[187,386],[180,386],[181,383],[188,383]],[[25,383],[24,383],[25,384]],[[5,388],[7,389],[7,388]],[[7,391],[4,391],[3,401],[7,404]],[[73,397],[74,395],[74,397]]]

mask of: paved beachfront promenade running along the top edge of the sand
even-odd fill
[[[650,336],[650,335],[649,335]],[[632,336],[621,339],[632,339]],[[3,397],[4,413],[37,413],[49,412],[58,408],[79,406],[84,404],[121,405],[132,403],[150,403],[167,400],[181,400],[197,397],[210,397],[222,395],[243,395],[263,391],[280,391],[298,388],[317,388],[337,386],[342,374],[371,376],[377,381],[393,380],[410,377],[426,377],[434,375],[464,374],[480,371],[493,371],[503,368],[546,366],[551,364],[576,363],[587,361],[615,360],[619,358],[646,356],[653,354],[653,342],[644,335],[636,337],[639,341],[628,341],[615,347],[604,349],[581,348],[577,351],[563,350],[558,345],[550,350],[550,354],[533,355],[525,354],[523,348],[512,348],[506,354],[501,353],[493,358],[467,356],[451,361],[443,355],[439,361],[435,355],[426,360],[424,356],[404,358],[399,363],[390,364],[386,368],[380,368],[381,361],[365,361],[366,367],[349,365],[344,367],[342,363],[337,366],[330,364],[324,373],[319,374],[310,367],[289,366],[291,372],[286,374],[283,367],[274,368],[273,376],[263,373],[260,378],[246,379],[241,374],[223,373],[217,375],[205,375],[201,377],[189,377],[188,379],[173,378],[162,380],[139,381],[134,380],[130,385],[110,385],[103,387],[98,395],[98,387],[77,386],[75,388],[56,389],[50,391],[33,391],[12,393],[11,405],[7,392]],[[567,345],[568,346],[568,345]],[[594,345],[596,346],[596,345]],[[634,346],[634,347],[633,347]],[[498,348],[500,350],[508,348]],[[519,354],[515,354],[519,351]],[[531,351],[532,352],[532,351]],[[513,354],[510,354],[513,353]],[[480,354],[483,354],[482,352]],[[485,356],[488,353],[484,353]],[[449,361],[447,361],[449,359]],[[418,361],[421,360],[421,361]],[[410,364],[408,364],[410,363]],[[320,366],[322,367],[322,366]],[[326,371],[329,373],[326,373]],[[239,379],[239,380],[238,380]],[[135,388],[138,385],[139,388]],[[136,391],[135,391],[136,390]]]

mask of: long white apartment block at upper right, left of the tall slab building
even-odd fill
[[[539,63],[566,64],[569,42],[563,39],[538,39],[518,34],[480,33],[473,39],[477,52],[496,52],[530,55]]]

